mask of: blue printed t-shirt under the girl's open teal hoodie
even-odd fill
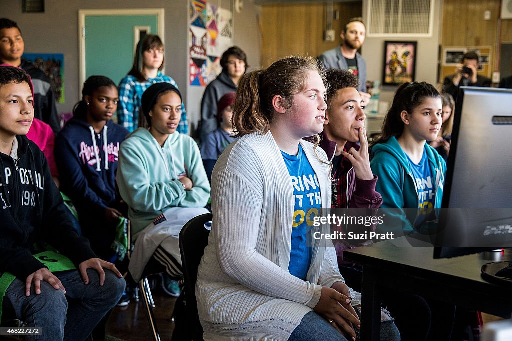
[[[423,157],[419,164],[412,162],[409,155],[409,164],[411,165],[411,171],[416,181],[416,189],[418,191],[419,198],[419,213],[414,223],[415,228],[419,228],[423,223],[429,219],[429,216],[434,212],[434,203],[436,193],[434,191],[434,179],[432,176],[432,170],[430,169],[429,159],[426,157],[426,151],[423,150]]]

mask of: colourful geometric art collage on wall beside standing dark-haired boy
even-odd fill
[[[232,17],[204,0],[190,1],[190,85],[206,86],[221,73],[222,53],[233,44]]]

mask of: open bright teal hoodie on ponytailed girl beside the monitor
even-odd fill
[[[434,208],[439,209],[443,197],[446,162],[428,143],[425,143],[425,151],[435,179]],[[395,237],[418,232],[413,227],[420,209],[418,190],[406,153],[395,137],[392,137],[386,143],[375,145],[372,152],[374,156],[371,167],[373,174],[379,177],[375,190],[382,195],[381,207],[400,209],[387,210],[385,213],[388,218],[385,220],[385,224],[377,226],[377,231],[393,231],[396,232]],[[416,208],[416,210],[403,210],[403,208]],[[439,216],[438,210],[436,210],[436,213]],[[429,230],[430,227],[425,224],[419,232]]]

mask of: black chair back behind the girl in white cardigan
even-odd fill
[[[190,219],[180,232],[180,251],[185,278],[185,299],[188,321],[193,327],[193,339],[203,340],[203,327],[199,321],[196,298],[197,272],[204,248],[208,245],[210,231],[204,224],[212,219],[211,213],[205,213]]]

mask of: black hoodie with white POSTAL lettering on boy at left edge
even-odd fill
[[[96,257],[89,241],[73,228],[39,147],[18,135],[13,151],[0,152],[0,274],[9,271],[25,281],[46,267],[32,256],[34,243],[42,240],[77,266]]]

